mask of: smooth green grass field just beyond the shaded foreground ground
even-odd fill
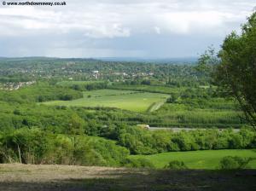
[[[220,159],[224,156],[252,157],[255,160],[248,164],[248,168],[256,169],[256,150],[207,150],[207,151],[188,151],[157,153],[152,155],[132,155],[132,159],[148,159],[155,167],[163,168],[172,160],[180,160],[189,167],[189,169],[217,169]]]

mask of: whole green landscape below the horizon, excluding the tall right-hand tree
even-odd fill
[[[6,87],[34,83],[0,90],[0,189],[226,190],[226,180],[238,190],[253,189],[255,131],[236,100],[195,76],[194,67],[77,61],[59,70],[66,60],[45,62],[37,68],[26,61],[27,79],[16,73],[19,64],[11,68],[16,76],[2,73]],[[250,160],[243,168],[252,170],[237,170],[238,178],[217,170],[225,156]],[[163,169],[173,160],[189,170]]]

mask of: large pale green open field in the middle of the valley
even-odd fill
[[[84,97],[77,100],[46,101],[44,104],[67,107],[116,107],[134,112],[146,112],[159,108],[160,103],[167,98],[168,96],[164,94],[130,90],[93,90],[84,91]]]

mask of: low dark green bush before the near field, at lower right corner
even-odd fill
[[[241,158],[238,156],[226,156],[220,160],[220,169],[231,170],[231,169],[245,169],[247,164],[252,158]]]

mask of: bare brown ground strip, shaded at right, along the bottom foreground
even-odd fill
[[[0,190],[256,190],[256,171],[10,164],[0,165]]]

